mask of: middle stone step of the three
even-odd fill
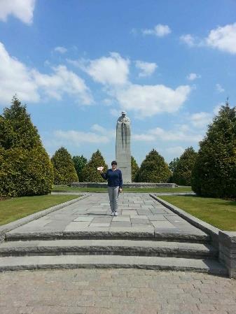
[[[6,241],[0,256],[24,255],[137,255],[183,258],[217,258],[209,244],[134,240]]]

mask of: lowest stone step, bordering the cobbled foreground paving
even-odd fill
[[[60,255],[0,257],[0,271],[23,269],[73,268],[138,268],[172,271],[197,271],[227,275],[227,270],[216,260],[184,259],[175,257],[141,257],[120,255]]]

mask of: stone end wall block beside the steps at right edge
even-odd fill
[[[219,231],[219,261],[228,269],[230,278],[236,278],[236,232]]]

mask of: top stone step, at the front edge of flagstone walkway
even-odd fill
[[[160,231],[149,227],[94,227],[83,228],[78,231],[9,231],[6,233],[6,241],[27,241],[27,240],[59,240],[59,239],[138,239],[155,241],[173,241],[188,243],[207,243],[210,236],[201,230],[187,231]]]

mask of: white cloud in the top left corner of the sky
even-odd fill
[[[8,15],[18,17],[26,24],[32,24],[35,0],[1,0],[0,20],[6,22]]]

